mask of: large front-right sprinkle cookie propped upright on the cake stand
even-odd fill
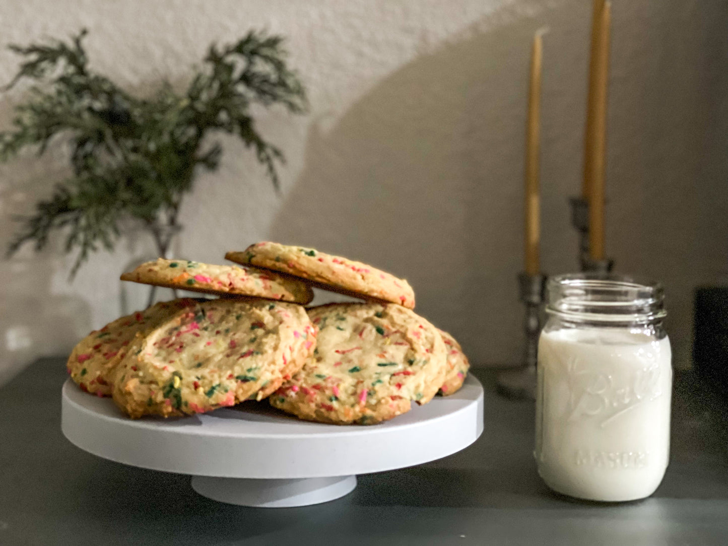
[[[429,402],[443,384],[446,350],[437,329],[395,304],[309,309],[314,356],[269,401],[301,419],[374,424]]]

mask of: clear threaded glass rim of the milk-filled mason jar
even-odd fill
[[[546,312],[574,322],[652,323],[667,315],[660,282],[622,274],[575,273],[547,281]]]

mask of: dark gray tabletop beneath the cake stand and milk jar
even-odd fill
[[[728,411],[676,377],[673,446],[649,499],[622,505],[550,493],[533,456],[533,403],[486,387],[485,430],[419,467],[359,477],[323,505],[264,509],[197,495],[189,477],[108,462],[60,432],[64,361],[0,389],[0,545],[725,545]],[[437,438],[433,438],[437,441]]]

